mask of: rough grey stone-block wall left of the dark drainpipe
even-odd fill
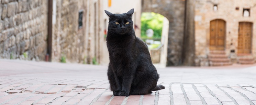
[[[43,61],[48,0],[0,0],[0,58]]]

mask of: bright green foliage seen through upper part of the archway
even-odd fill
[[[153,29],[153,38],[161,38],[164,16],[154,12],[141,14],[141,38],[147,38],[146,30]]]

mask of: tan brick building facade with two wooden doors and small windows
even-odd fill
[[[255,62],[255,0],[195,0],[193,4],[197,66]]]

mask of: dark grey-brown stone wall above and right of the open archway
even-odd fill
[[[142,0],[142,12],[155,12],[169,20],[167,65],[182,65],[184,0]]]

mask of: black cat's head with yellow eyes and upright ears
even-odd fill
[[[112,14],[105,10],[105,13],[109,16],[108,33],[110,34],[126,34],[133,32],[132,14],[134,9],[131,9],[127,13]]]

